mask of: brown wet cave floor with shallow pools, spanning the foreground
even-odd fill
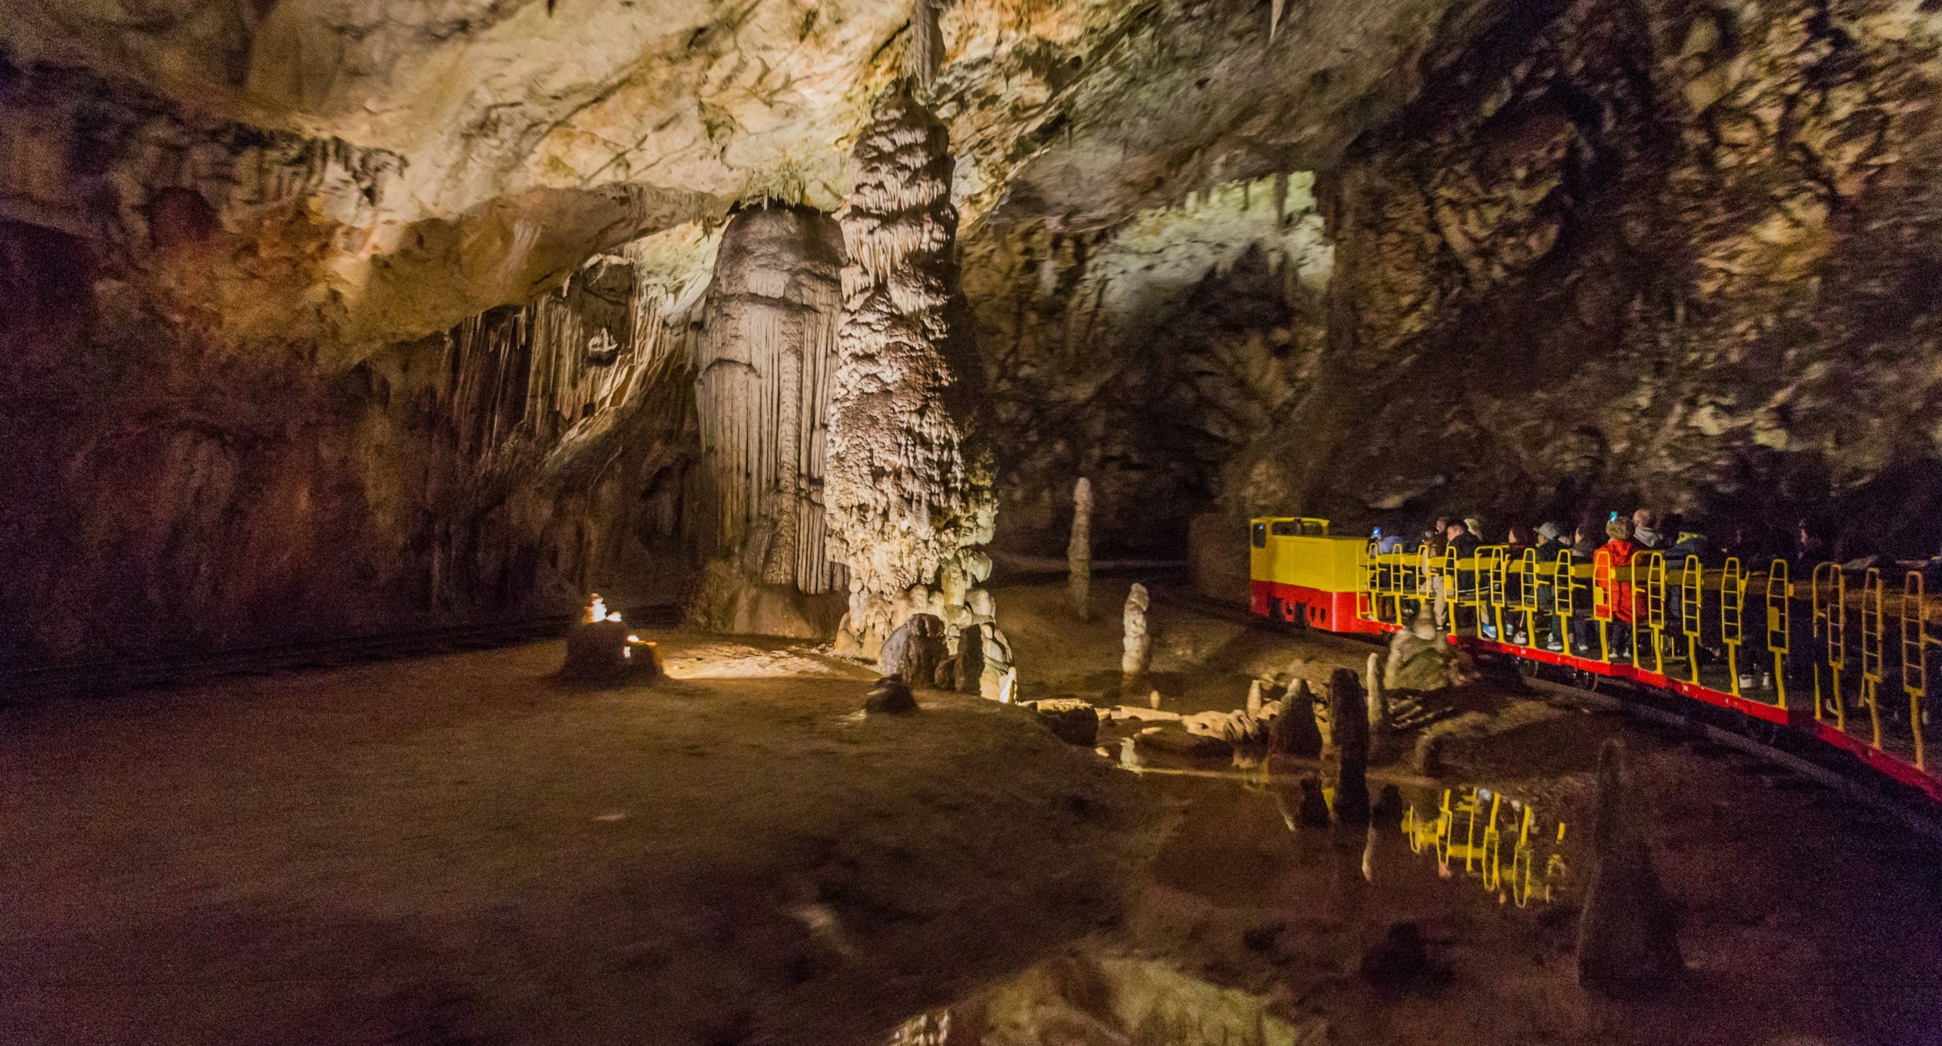
[[[998,590],[1025,697],[1105,701],[1122,596],[1097,578],[1078,623],[1058,584]],[[1154,621],[1181,712],[1369,650]],[[1930,844],[1608,708],[1507,691],[1439,778],[1373,770],[1410,817],[1332,831],[1299,759],[1128,768],[1136,720],[1101,755],[942,693],[862,720],[862,668],[645,638],[645,689],[530,644],[0,708],[0,1042],[1942,1040]],[[1620,734],[1691,966],[1643,1001],[1573,963]],[[1480,788],[1495,875],[1427,829]]]

